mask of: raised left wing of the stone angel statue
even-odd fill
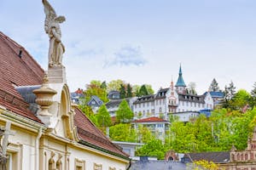
[[[44,4],[44,14],[45,14],[45,20],[44,20],[44,30],[46,33],[49,32],[49,24],[50,22],[53,22],[55,17],[57,16],[55,13],[55,9],[52,8],[47,0],[42,1]]]

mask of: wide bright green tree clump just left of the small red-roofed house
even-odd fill
[[[130,123],[119,123],[109,127],[110,139],[115,141],[137,142],[137,133]]]

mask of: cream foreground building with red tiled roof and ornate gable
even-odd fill
[[[54,11],[43,3],[46,12]],[[44,74],[26,49],[2,32],[0,59],[0,159],[7,159],[7,170],[129,167],[129,156],[72,105],[61,63],[49,62]]]

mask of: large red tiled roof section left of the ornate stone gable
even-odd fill
[[[2,32],[0,32],[0,60],[0,105],[18,115],[41,122],[29,111],[29,105],[15,87],[42,84],[44,70],[25,48]]]

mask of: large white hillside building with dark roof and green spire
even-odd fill
[[[213,100],[210,93],[203,95],[188,94],[180,67],[175,87],[171,82],[170,88],[160,88],[154,95],[139,97],[133,105],[134,114],[137,118],[140,118],[141,115],[142,118],[159,116],[167,120],[168,114],[172,113],[179,116],[178,113],[212,109]],[[185,120],[189,120],[189,116],[191,116],[190,114],[183,115],[186,116]]]

